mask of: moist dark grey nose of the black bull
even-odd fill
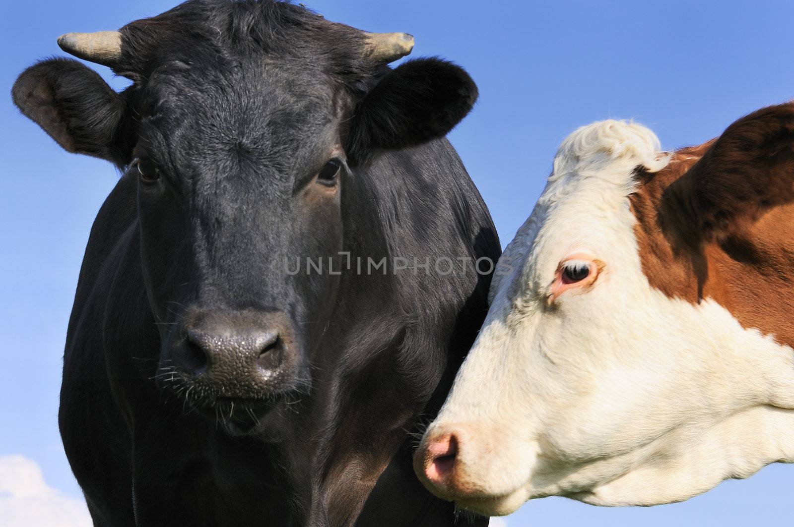
[[[236,396],[239,388],[267,387],[295,355],[291,324],[282,314],[220,311],[191,314],[171,356],[193,378]]]

